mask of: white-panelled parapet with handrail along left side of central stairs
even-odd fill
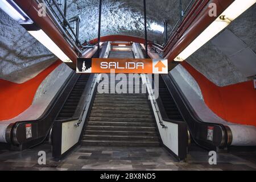
[[[100,57],[109,55],[110,42],[104,43],[101,49]],[[82,131],[86,125],[88,113],[96,94],[98,82],[100,82],[101,74],[92,74],[86,84],[84,94],[84,103],[80,114],[73,115],[73,118],[56,121],[52,129],[52,155],[53,158],[60,160],[64,158],[70,151],[72,151],[81,142]],[[84,94],[81,97],[84,97]],[[80,104],[82,104],[80,102]]]

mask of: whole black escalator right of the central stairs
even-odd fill
[[[208,150],[229,145],[227,127],[201,121],[171,75],[159,75],[159,96],[169,119],[187,122],[193,141]]]

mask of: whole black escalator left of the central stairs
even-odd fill
[[[9,125],[6,138],[11,149],[21,151],[42,143],[47,139],[55,120],[71,118],[81,102],[80,98],[89,77],[90,75],[71,73],[39,119]],[[27,137],[28,127],[31,131],[30,137]]]

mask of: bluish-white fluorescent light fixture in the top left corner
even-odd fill
[[[1,0],[0,8],[20,24],[33,23],[30,18],[12,0]]]

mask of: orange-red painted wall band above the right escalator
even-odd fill
[[[256,126],[256,90],[253,81],[217,86],[185,61],[181,65],[195,78],[205,104],[215,114],[229,122]]]

